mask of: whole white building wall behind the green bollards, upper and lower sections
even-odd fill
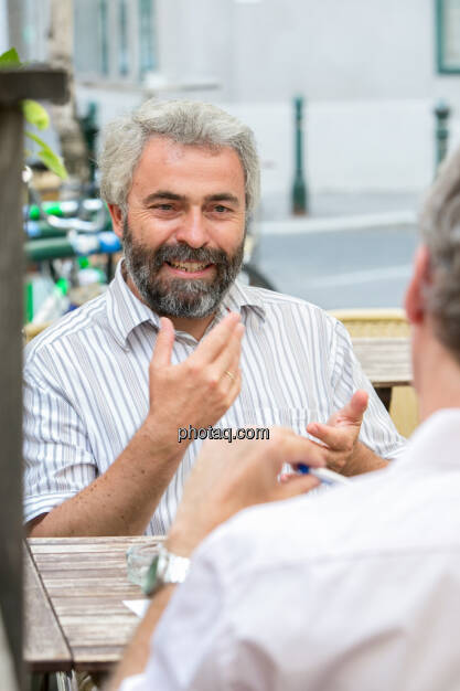
[[[432,0],[157,1],[161,71],[172,81],[220,82],[192,97],[253,127],[266,199],[289,196],[297,93],[308,98],[312,193],[422,190],[434,173],[440,96],[453,107],[451,147],[460,143],[460,77],[437,74]],[[141,98],[77,94],[83,108],[96,96],[103,124]]]

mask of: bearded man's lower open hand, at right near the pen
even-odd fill
[[[368,395],[356,391],[351,401],[334,413],[327,424],[310,423],[307,432],[323,443],[321,455],[329,468],[347,475],[357,450],[361,423],[367,407]]]

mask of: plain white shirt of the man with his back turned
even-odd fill
[[[459,448],[439,412],[387,469],[214,531],[122,691],[460,689]]]

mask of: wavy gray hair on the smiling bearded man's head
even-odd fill
[[[114,120],[105,130],[99,170],[100,195],[107,203],[126,212],[133,171],[146,142],[153,136],[183,145],[234,149],[245,174],[246,209],[248,213],[254,211],[259,199],[260,171],[249,127],[212,104],[154,98]]]

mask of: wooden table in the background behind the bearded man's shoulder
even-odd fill
[[[355,338],[353,349],[365,374],[388,410],[392,387],[411,384],[410,339]]]

